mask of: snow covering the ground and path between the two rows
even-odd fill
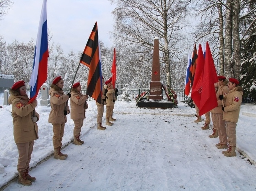
[[[82,146],[73,145],[73,120],[68,115],[62,140],[65,161],[53,158],[50,107],[38,106],[39,139],[35,140],[30,175],[32,186],[18,184],[18,150],[13,139],[11,106],[0,98],[0,190],[166,191],[255,190],[256,106],[243,104],[237,123],[236,157],[225,157],[209,138],[211,127],[194,123],[195,109],[138,108],[135,101],[116,101],[112,126],[97,130],[95,101],[88,101],[81,131]],[[105,109],[105,108],[104,108]],[[104,113],[105,114],[105,113]],[[202,116],[203,119],[204,116]],[[238,150],[243,153],[240,154]],[[246,157],[245,157],[246,156]],[[12,180],[13,179],[13,180]],[[9,182],[9,183],[8,183]],[[7,184],[7,186],[3,186]]]

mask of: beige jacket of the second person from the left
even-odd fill
[[[49,95],[51,111],[48,122],[52,124],[66,123],[67,117],[64,115],[64,111],[66,110],[68,114],[70,113],[69,106],[67,104],[69,96],[67,94],[65,95],[64,92],[54,84],[50,87]]]

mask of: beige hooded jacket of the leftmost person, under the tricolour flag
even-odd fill
[[[36,122],[32,121],[33,110],[37,106],[37,101],[28,104],[28,97],[21,96],[18,92],[10,90],[8,98],[9,104],[12,105],[13,118],[13,136],[15,143],[30,142],[38,139],[38,126]],[[35,112],[37,121],[39,114]]]

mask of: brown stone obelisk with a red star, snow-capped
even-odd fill
[[[157,37],[154,38],[153,65],[152,65],[149,99],[154,99],[154,100],[163,99],[162,83],[160,82],[159,40]]]

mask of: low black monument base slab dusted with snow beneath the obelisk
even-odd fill
[[[173,108],[172,101],[168,100],[141,100],[137,102],[138,107],[147,107],[147,108]]]

